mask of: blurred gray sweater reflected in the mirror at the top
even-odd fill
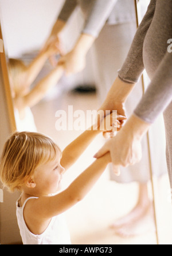
[[[134,0],[66,0],[58,18],[67,21],[77,6],[85,17],[82,32],[94,37],[99,36],[105,22],[115,25],[135,20]]]

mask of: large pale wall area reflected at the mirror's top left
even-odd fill
[[[56,20],[63,0],[0,0],[7,55],[17,58],[39,49]]]

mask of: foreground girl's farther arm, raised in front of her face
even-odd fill
[[[72,141],[62,152],[61,165],[65,171],[73,165],[76,160],[81,156],[85,149],[91,144],[93,139],[100,133],[99,130],[86,130],[76,140]]]

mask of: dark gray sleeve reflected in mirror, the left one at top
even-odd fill
[[[73,11],[76,9],[77,0],[66,0],[64,6],[61,9],[58,18],[62,21],[67,22]]]

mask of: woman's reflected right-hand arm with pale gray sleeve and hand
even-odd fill
[[[61,57],[59,61],[59,63],[65,66],[67,75],[78,73],[84,69],[87,52],[93,42],[95,42],[96,37],[99,36],[116,1],[117,0],[95,0],[93,1],[91,10],[89,10],[89,2],[84,3],[85,9],[89,10],[84,29],[73,50]]]

